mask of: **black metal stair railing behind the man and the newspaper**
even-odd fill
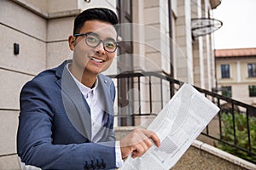
[[[109,75],[108,77],[111,77],[113,81],[117,81],[117,97],[119,107],[131,105],[129,102],[133,103],[133,109],[131,109],[131,107],[130,110],[125,110],[130,111],[130,113],[125,114],[126,116],[130,116],[132,119],[136,119],[138,116],[156,116],[167,101],[172,98],[172,96],[177,92],[178,88],[180,88],[183,84],[183,82],[172,79],[171,77],[168,77],[168,75],[159,72],[125,72],[119,75]],[[129,87],[131,82],[132,87]],[[120,96],[120,94],[127,94],[131,88],[137,89],[137,93],[133,93],[130,96]],[[235,99],[226,98],[220,94],[212,93],[202,88],[195,88],[220,108],[217,116],[213,118],[214,120],[207,125],[201,134],[207,139],[217,142],[217,144],[224,144],[225,146],[232,147],[235,150],[240,150],[241,152],[245,152],[248,156],[256,156],[256,145],[253,145],[255,142],[252,141],[252,137],[255,135],[254,133],[256,132],[256,129],[254,129],[252,134],[252,125],[249,123],[250,119],[255,118],[256,116],[256,107],[239,102]],[[129,97],[132,99],[128,99]],[[126,102],[125,104],[122,104],[124,98],[126,99]],[[134,105],[137,105],[136,109],[134,109]],[[154,109],[154,106],[157,106],[159,109]],[[119,110],[117,116],[124,116],[121,112],[122,111]],[[228,129],[232,136],[231,141],[230,139],[227,140],[225,138],[226,134],[224,133],[224,128],[227,127],[224,124],[223,116],[227,114],[230,114],[231,117],[232,129]],[[244,128],[246,128],[247,133],[242,139],[247,140],[246,147],[239,145],[237,142],[241,139],[239,139],[238,135],[238,133],[240,133],[239,127],[236,127],[236,114],[242,114],[246,117]],[[135,125],[134,121],[132,121],[132,123],[133,124],[130,125]],[[255,136],[253,138],[255,139]],[[255,161],[252,162],[256,163]]]

